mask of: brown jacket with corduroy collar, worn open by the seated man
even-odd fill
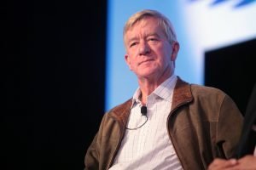
[[[105,170],[112,166],[130,111],[131,99],[103,116],[85,155],[85,170]],[[166,128],[183,169],[207,169],[215,157],[233,156],[242,121],[241,112],[227,94],[216,88],[183,82],[178,77]]]

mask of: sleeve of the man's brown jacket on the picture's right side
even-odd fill
[[[220,157],[235,156],[237,144],[241,136],[243,116],[235,102],[226,95],[220,106],[218,117],[218,153]]]

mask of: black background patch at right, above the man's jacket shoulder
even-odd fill
[[[230,95],[244,115],[256,83],[256,39],[205,53],[205,84]]]

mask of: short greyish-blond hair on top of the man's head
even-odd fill
[[[165,15],[160,14],[160,12],[152,9],[145,9],[131,15],[131,17],[125,23],[123,37],[125,37],[125,33],[130,30],[132,26],[147,17],[154,17],[159,20],[159,26],[164,31],[168,42],[177,42],[176,33],[174,31],[171,21],[168,20]]]

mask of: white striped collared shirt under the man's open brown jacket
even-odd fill
[[[124,139],[110,170],[183,169],[167,132],[167,118],[172,107],[173,88],[177,77],[173,75],[161,83],[147,98],[148,122],[136,130],[126,129]],[[141,114],[141,94],[133,95],[127,127],[136,128],[145,122]]]

